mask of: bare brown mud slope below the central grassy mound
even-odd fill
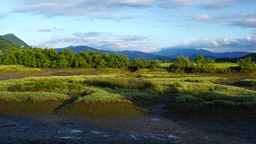
[[[71,103],[59,107],[54,114],[70,117],[126,117],[143,116],[150,111],[129,103]]]

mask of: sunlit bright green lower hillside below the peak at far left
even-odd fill
[[[14,44],[4,38],[0,38],[0,62],[1,60],[4,58],[4,56],[6,56],[6,52],[8,52],[8,50],[12,50],[12,49],[31,49],[30,46],[20,46],[18,44]]]

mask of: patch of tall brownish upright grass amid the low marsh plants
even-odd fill
[[[147,88],[161,88],[158,82],[145,81],[138,78],[88,78],[84,80],[88,86],[100,86],[104,88],[124,88],[129,90],[145,90]]]

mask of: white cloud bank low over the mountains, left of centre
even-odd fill
[[[147,37],[133,35],[112,35],[104,32],[76,32],[74,36],[52,36],[51,40],[43,42],[30,42],[30,45],[36,45],[41,48],[63,48],[73,46],[90,46],[102,50],[137,50],[143,52],[152,52],[157,47],[148,42]]]

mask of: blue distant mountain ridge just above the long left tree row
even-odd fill
[[[95,50],[97,51],[98,49],[92,48],[89,46],[68,46],[66,48],[70,48],[73,52],[82,52],[82,51],[88,51],[88,50]],[[62,50],[66,48],[56,48],[57,52],[61,52]],[[101,53],[109,53],[109,54],[114,54],[114,53],[119,53],[123,55],[127,55],[130,60],[133,60],[134,58],[142,58],[144,57],[145,59],[151,59],[155,58],[159,55],[156,54],[151,54],[151,53],[146,53],[146,52],[138,52],[138,51],[129,51],[129,50],[124,50],[124,51],[112,51],[112,50],[100,50]]]

